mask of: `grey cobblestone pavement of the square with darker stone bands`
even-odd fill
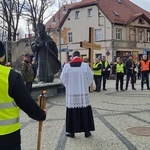
[[[150,150],[150,136],[133,135],[132,127],[150,127],[150,91],[115,91],[115,81],[107,81],[107,91],[90,93],[95,131],[89,138],[77,133],[65,136],[65,96],[47,100],[47,119],[43,123],[41,150]],[[22,149],[37,149],[38,122],[21,112]]]

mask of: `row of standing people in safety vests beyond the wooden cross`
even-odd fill
[[[106,80],[109,79],[112,75],[115,76],[116,79],[116,91],[119,91],[119,82],[120,91],[128,90],[129,83],[131,83],[132,90],[136,90],[135,83],[137,79],[141,79],[141,90],[144,88],[144,83],[147,85],[147,90],[150,90],[150,61],[148,60],[147,55],[143,55],[142,60],[137,63],[133,61],[133,56],[130,55],[125,62],[123,62],[120,57],[117,57],[116,62],[110,64],[105,60],[105,56],[103,56],[102,60],[96,58],[92,69],[94,72],[94,81],[96,86],[95,91],[97,92],[101,91],[102,78],[103,90],[107,90]],[[125,76],[126,84],[124,87]]]

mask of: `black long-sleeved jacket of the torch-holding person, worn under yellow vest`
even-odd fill
[[[29,95],[22,77],[14,70],[9,74],[9,91],[10,97],[14,98],[17,106],[22,109],[32,119],[42,121],[46,119],[45,112],[39,108],[34,99]],[[1,93],[2,94],[2,93]],[[9,144],[8,144],[9,143]],[[20,130],[0,136],[0,149],[11,149],[12,145],[21,143]]]

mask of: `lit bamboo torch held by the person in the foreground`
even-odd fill
[[[45,93],[46,91],[42,91],[42,94],[38,97],[38,104],[41,109],[46,109],[46,97],[44,95]],[[42,127],[43,127],[43,121],[39,121],[37,150],[41,149]]]

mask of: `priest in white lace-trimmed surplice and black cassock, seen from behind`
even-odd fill
[[[89,100],[89,86],[93,82],[93,71],[88,63],[75,51],[71,62],[65,64],[60,79],[66,88],[66,136],[75,137],[85,132],[85,137],[94,131],[94,120]]]

